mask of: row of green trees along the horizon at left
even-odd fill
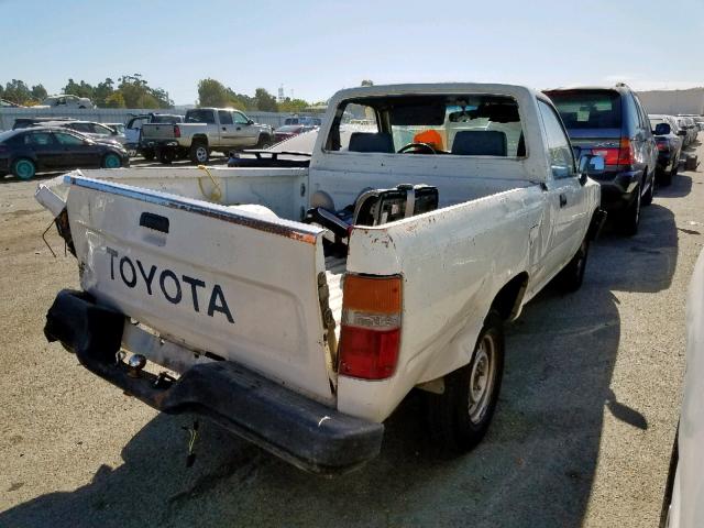
[[[141,74],[123,75],[113,80],[110,77],[102,82],[91,85],[85,80],[76,82],[68,79],[62,94],[87,97],[98,108],[173,108],[174,101],[163,88],[154,88]],[[0,98],[32,107],[41,105],[48,96],[42,84],[29,86],[23,80],[12,79],[4,86],[0,84]],[[254,96],[239,94],[219,80],[207,78],[198,81],[198,101],[200,107],[234,107],[240,110],[264,112],[301,112],[314,103],[304,99],[285,98],[278,101],[265,88],[256,88]]]

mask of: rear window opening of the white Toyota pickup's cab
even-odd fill
[[[516,157],[525,156],[521,135],[508,96],[369,97],[338,108],[326,150]]]

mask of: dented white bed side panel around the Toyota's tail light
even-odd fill
[[[417,384],[471,360],[496,293],[546,258],[531,239],[543,219],[539,186],[518,188],[378,228],[354,229],[348,271],[402,274],[400,352],[393,377],[338,378],[338,408],[382,421]],[[544,233],[548,238],[550,233]]]

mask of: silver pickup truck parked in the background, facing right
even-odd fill
[[[148,123],[142,127],[142,148],[151,148],[165,164],[177,157],[190,157],[194,163],[208,163],[210,153],[224,154],[243,148],[268,148],[274,143],[274,130],[258,124],[231,108],[197,108],[188,110],[183,123]]]

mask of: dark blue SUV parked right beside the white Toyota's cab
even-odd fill
[[[626,234],[636,234],[640,206],[652,201],[658,147],[638,96],[619,84],[613,88],[546,91],[557,107],[570,141],[580,153],[604,157],[602,207],[615,215]]]

